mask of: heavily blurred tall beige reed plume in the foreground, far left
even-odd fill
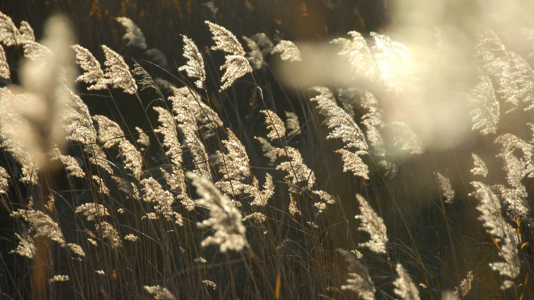
[[[0,21],[6,21],[2,16],[5,17],[0,15]],[[17,35],[18,29],[5,27],[6,23],[0,24],[4,26],[1,31],[4,43],[5,39],[13,38],[10,41],[17,44],[19,41],[15,40],[21,38]],[[10,36],[6,28],[17,31],[11,31],[13,36]],[[59,16],[51,18],[46,22],[44,31],[44,45],[33,41],[24,43],[38,44],[46,51],[23,60],[20,68],[22,90],[13,93],[9,88],[0,89],[2,146],[11,149],[15,160],[22,165],[25,176],[21,180],[32,183],[37,182],[36,171],[46,169],[49,165],[44,153],[51,144],[64,144],[62,112],[69,105],[69,99],[64,96],[69,92],[68,86],[74,78],[69,51],[69,44],[74,38],[68,21]]]

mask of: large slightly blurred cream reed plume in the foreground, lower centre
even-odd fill
[[[197,187],[197,193],[202,197],[195,200],[197,205],[209,209],[210,218],[197,225],[215,230],[215,234],[204,239],[201,245],[205,247],[218,244],[221,252],[228,249],[239,251],[248,246],[241,212],[232,204],[230,198],[221,194],[206,178],[192,172],[187,172],[186,176],[192,180],[193,185]]]

